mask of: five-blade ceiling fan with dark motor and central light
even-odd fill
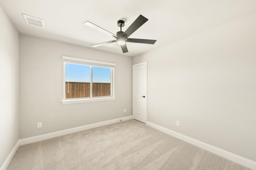
[[[104,43],[99,43],[99,44],[95,44],[95,45],[91,45],[92,47],[98,47],[101,45],[105,45],[105,44],[110,44],[110,43],[114,43],[116,42],[118,45],[121,46],[121,49],[123,51],[123,53],[127,53],[128,49],[126,47],[126,43],[144,43],[144,44],[154,44],[156,42],[156,40],[152,40],[152,39],[134,39],[134,38],[128,38],[130,35],[132,35],[132,33],[134,33],[134,31],[136,31],[139,27],[141,27],[146,21],[148,21],[147,18],[145,18],[144,16],[140,15],[133,23],[132,25],[130,25],[130,27],[128,27],[126,29],[126,31],[122,31],[122,27],[124,27],[124,21],[123,20],[119,20],[117,21],[117,25],[118,27],[120,27],[120,31],[118,31],[116,33],[116,35],[114,35],[113,33],[110,33],[109,31],[89,22],[86,21],[84,23],[84,25],[87,25],[89,27],[92,27],[98,31],[101,31],[103,33],[106,33],[112,37],[115,38],[115,40],[112,41],[107,41]]]

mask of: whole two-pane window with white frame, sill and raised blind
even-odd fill
[[[115,63],[62,56],[64,100],[62,104],[114,100]]]

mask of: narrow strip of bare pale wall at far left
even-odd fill
[[[0,6],[0,166],[19,139],[19,34]]]

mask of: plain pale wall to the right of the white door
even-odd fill
[[[144,61],[148,121],[256,161],[255,13],[133,57]]]

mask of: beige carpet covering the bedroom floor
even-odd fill
[[[7,170],[249,170],[136,120],[22,145]]]

